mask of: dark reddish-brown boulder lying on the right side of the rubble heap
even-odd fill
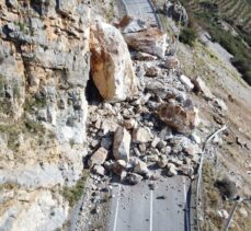
[[[161,104],[158,114],[168,126],[179,132],[191,134],[198,125],[197,108],[191,101],[183,104],[175,101]]]

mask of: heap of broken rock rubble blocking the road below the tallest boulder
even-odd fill
[[[128,38],[133,32],[134,36],[136,32],[144,35],[149,28],[142,25],[127,16],[118,27]],[[201,139],[194,132],[199,124],[191,100],[194,83],[181,73],[175,57],[155,56],[142,48],[148,39],[140,39],[132,51],[139,91],[125,101],[106,100],[90,106],[88,166],[99,176],[115,176],[132,185],[144,178],[157,180],[151,169],[160,169],[167,176],[193,178],[202,153]]]

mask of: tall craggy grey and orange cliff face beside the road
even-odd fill
[[[68,216],[59,188],[82,173],[89,26],[84,1],[0,1],[0,229]]]

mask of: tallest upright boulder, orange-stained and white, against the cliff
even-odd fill
[[[106,101],[124,101],[137,93],[137,79],[127,45],[114,26],[96,21],[91,27],[91,72]]]

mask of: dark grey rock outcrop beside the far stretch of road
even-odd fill
[[[163,12],[167,16],[172,18],[176,22],[181,22],[183,25],[187,25],[189,15],[186,10],[180,2],[172,3],[171,1],[166,1],[163,5]]]

